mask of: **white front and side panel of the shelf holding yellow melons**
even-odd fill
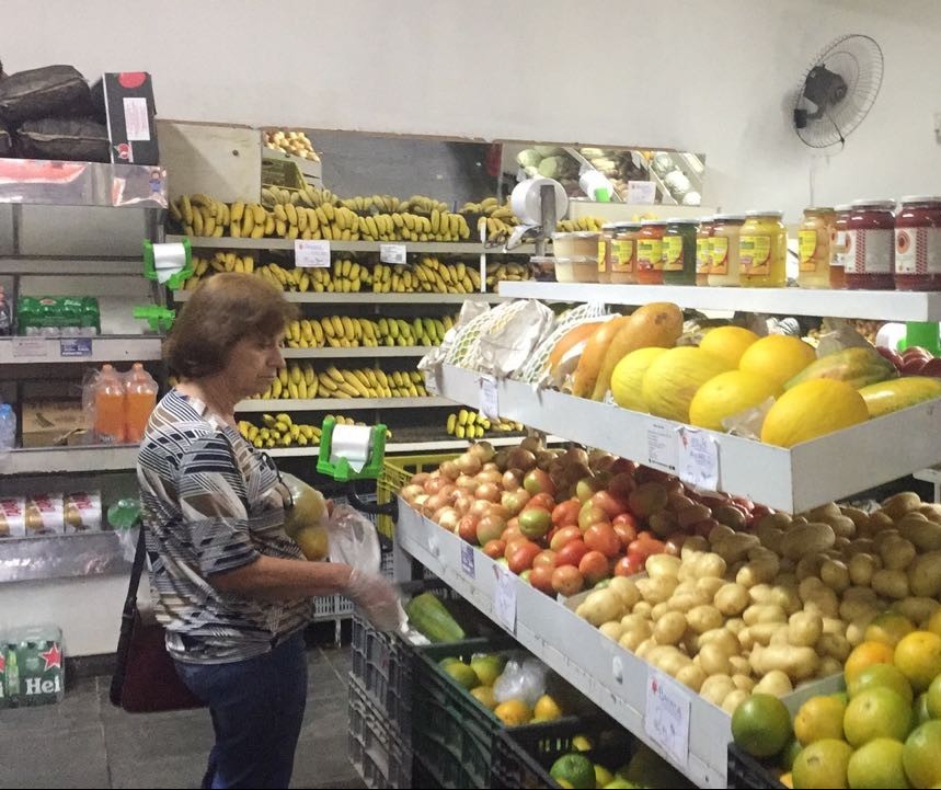
[[[443,366],[436,391],[456,403],[478,408],[480,379],[474,371]],[[519,381],[500,381],[497,397],[503,417],[674,472],[651,458],[651,442],[664,436],[673,442],[677,430],[689,427],[561,392],[533,392]],[[801,513],[937,463],[941,460],[939,431],[941,399],[791,449],[712,431],[702,433],[718,445],[720,490]]]

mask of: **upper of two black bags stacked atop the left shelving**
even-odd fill
[[[72,66],[44,66],[0,80],[0,118],[9,125],[91,113],[88,82]]]

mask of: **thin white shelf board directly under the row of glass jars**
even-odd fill
[[[785,316],[941,321],[941,291],[828,290],[811,288],[701,288],[679,285],[500,283],[500,295],[546,301],[645,305],[672,301],[700,310],[747,310]]]

